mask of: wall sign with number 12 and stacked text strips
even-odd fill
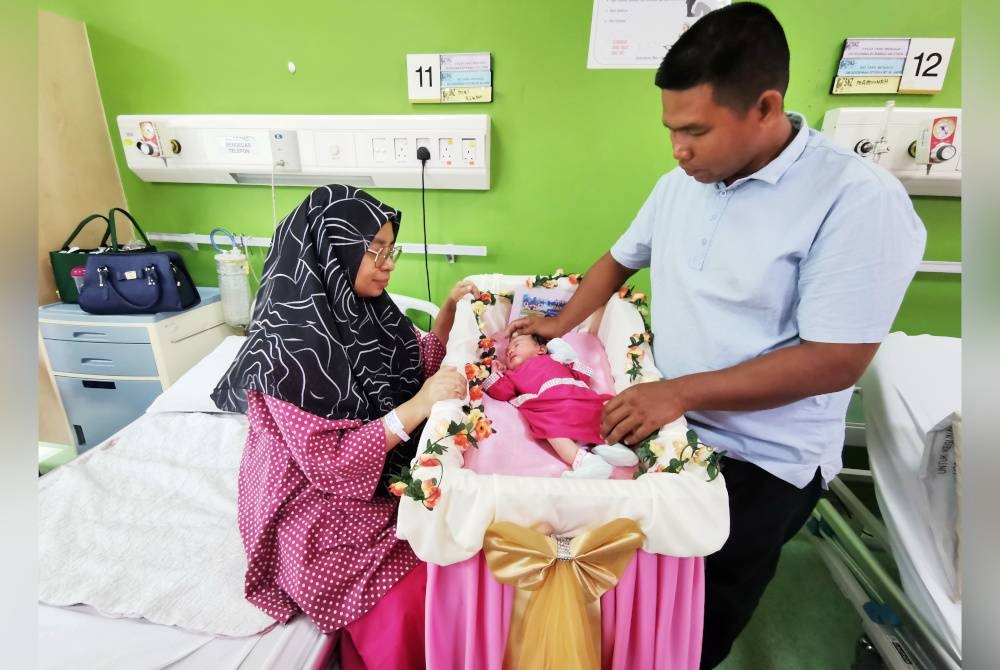
[[[938,93],[954,45],[951,37],[848,38],[830,93]]]

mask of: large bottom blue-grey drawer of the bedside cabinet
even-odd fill
[[[110,381],[60,377],[56,386],[66,407],[77,450],[86,451],[138,418],[162,391],[154,381]]]

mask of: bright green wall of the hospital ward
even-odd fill
[[[111,135],[119,114],[487,113],[489,191],[427,193],[429,241],[482,244],[485,258],[430,261],[435,301],[476,273],[583,271],[604,253],[656,179],[674,167],[651,70],[588,70],[589,0],[42,0],[88,26]],[[959,3],[771,0],[792,52],[787,107],[818,127],[827,109],[881,106],[886,96],[828,94],[845,37],[956,37],[944,90],[900,106],[961,106]],[[405,55],[490,51],[494,102],[412,105]],[[295,61],[291,75],[287,62]],[[147,230],[215,226],[269,236],[269,187],[148,184],[116,155],[129,207]],[[372,189],[404,212],[400,239],[421,240],[417,190]],[[308,189],[281,187],[279,217]],[[960,260],[960,202],[914,198],[928,260]],[[81,212],[81,217],[88,212]],[[215,284],[211,254],[180,248],[195,279]],[[404,257],[393,290],[424,294],[422,257]],[[648,289],[648,276],[637,282]],[[958,335],[961,280],[921,274],[896,327]],[[655,296],[653,296],[655,300]]]

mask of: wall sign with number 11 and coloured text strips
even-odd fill
[[[410,102],[493,102],[490,52],[407,54]]]

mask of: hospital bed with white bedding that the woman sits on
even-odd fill
[[[209,394],[244,339],[227,338],[142,417],[39,479],[39,668],[334,667],[332,636],[301,615],[273,625],[243,598],[246,417]]]

